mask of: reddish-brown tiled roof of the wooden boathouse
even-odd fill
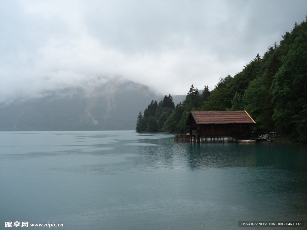
[[[256,122],[245,111],[191,111],[196,124],[235,124]]]

